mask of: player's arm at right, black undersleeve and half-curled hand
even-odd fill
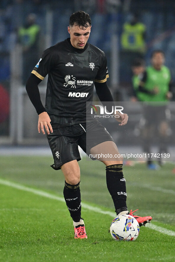
[[[95,89],[97,92],[97,96],[99,97],[99,100],[101,102],[103,101],[108,101],[108,102],[113,102],[112,105],[115,106],[114,104],[114,100],[113,97],[111,95],[111,92],[107,86],[106,81],[103,83],[98,83],[98,82],[94,82],[95,85]],[[128,115],[127,114],[121,114],[121,113],[117,113],[116,114],[118,117],[115,118],[118,122],[120,122],[120,126],[123,126],[125,124],[127,124],[128,122]]]

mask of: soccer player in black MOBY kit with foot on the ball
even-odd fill
[[[118,148],[105,128],[96,120],[87,120],[86,101],[92,101],[93,88],[101,101],[113,101],[107,87],[107,60],[103,51],[89,44],[91,19],[78,11],[70,16],[70,38],[46,49],[34,67],[26,84],[28,96],[39,115],[38,132],[45,134],[52,150],[55,170],[65,177],[64,198],[73,219],[75,238],[87,238],[81,218],[80,168],[78,145],[91,154],[119,154]],[[46,104],[41,103],[38,84],[48,74]],[[120,126],[128,120],[127,114],[118,114]],[[92,140],[86,143],[86,132]],[[94,139],[95,138],[95,139]],[[115,211],[129,214],[126,206],[126,182],[120,158],[100,159],[106,165],[107,188]],[[137,217],[137,216],[136,216]],[[152,218],[137,217],[139,224]]]

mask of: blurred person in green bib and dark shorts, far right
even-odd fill
[[[161,155],[161,153],[167,152],[166,144],[169,130],[167,101],[172,98],[172,81],[170,70],[164,65],[164,62],[164,52],[162,50],[153,51],[151,65],[135,80],[133,78],[137,100],[145,102],[143,106],[145,125],[142,130],[142,137],[144,138],[144,151],[148,153],[147,164],[149,169],[158,169],[158,166],[153,164],[151,157],[149,157],[155,134],[157,134],[159,143],[158,153]],[[159,164],[161,164],[160,159],[157,159]]]

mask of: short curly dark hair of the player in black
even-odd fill
[[[70,16],[69,25],[79,26],[80,28],[87,28],[91,26],[91,18],[89,14],[84,11],[77,11]]]

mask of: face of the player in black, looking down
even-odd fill
[[[68,32],[70,33],[70,42],[72,46],[78,49],[83,49],[88,41],[91,26],[86,29],[75,25],[68,26]]]

